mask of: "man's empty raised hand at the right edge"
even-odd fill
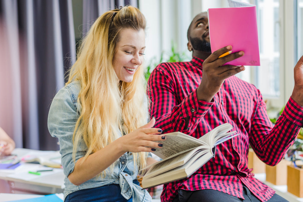
[[[294,68],[295,87],[291,98],[299,105],[303,106],[303,56]]]

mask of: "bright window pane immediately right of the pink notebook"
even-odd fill
[[[238,75],[260,89],[263,97],[278,99],[280,91],[280,23],[277,0],[256,0],[260,66],[248,66]]]

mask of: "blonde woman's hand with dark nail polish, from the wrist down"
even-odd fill
[[[152,128],[155,122],[155,118],[152,118],[148,124],[118,138],[116,141],[119,141],[123,152],[152,152],[155,148],[161,148],[162,144],[154,141],[163,141],[165,136],[159,135],[162,133],[160,128]]]

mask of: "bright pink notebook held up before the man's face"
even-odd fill
[[[211,52],[231,45],[233,52],[244,56],[227,62],[230,65],[260,65],[256,6],[228,0],[230,8],[209,8],[209,38]]]

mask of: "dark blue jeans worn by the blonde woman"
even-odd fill
[[[138,180],[134,180],[133,183],[138,184]],[[68,194],[64,202],[132,202],[130,199],[125,199],[121,195],[121,188],[119,184],[108,184],[101,187],[95,187],[90,189],[82,189]]]

